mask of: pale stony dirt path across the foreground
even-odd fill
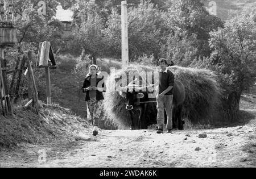
[[[27,148],[35,160],[5,160],[2,167],[255,167],[255,119],[245,126],[214,130],[108,131],[74,147]],[[207,138],[198,138],[202,132]],[[190,135],[190,137],[185,135]],[[66,146],[67,147],[67,146]],[[200,151],[195,151],[200,147]],[[30,151],[31,150],[31,151]],[[46,151],[46,161],[36,161],[38,151]],[[48,155],[49,154],[49,155]]]

